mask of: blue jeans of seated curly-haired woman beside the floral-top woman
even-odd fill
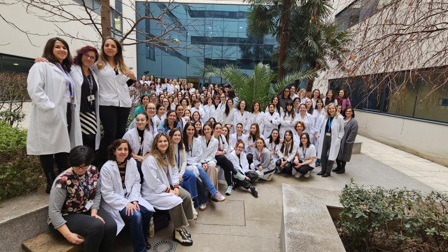
[[[126,207],[120,211],[121,218],[129,221],[132,244],[134,252],[146,252],[146,242],[148,241],[149,222],[153,212],[140,206],[140,211],[134,212],[134,215],[126,215]]]

